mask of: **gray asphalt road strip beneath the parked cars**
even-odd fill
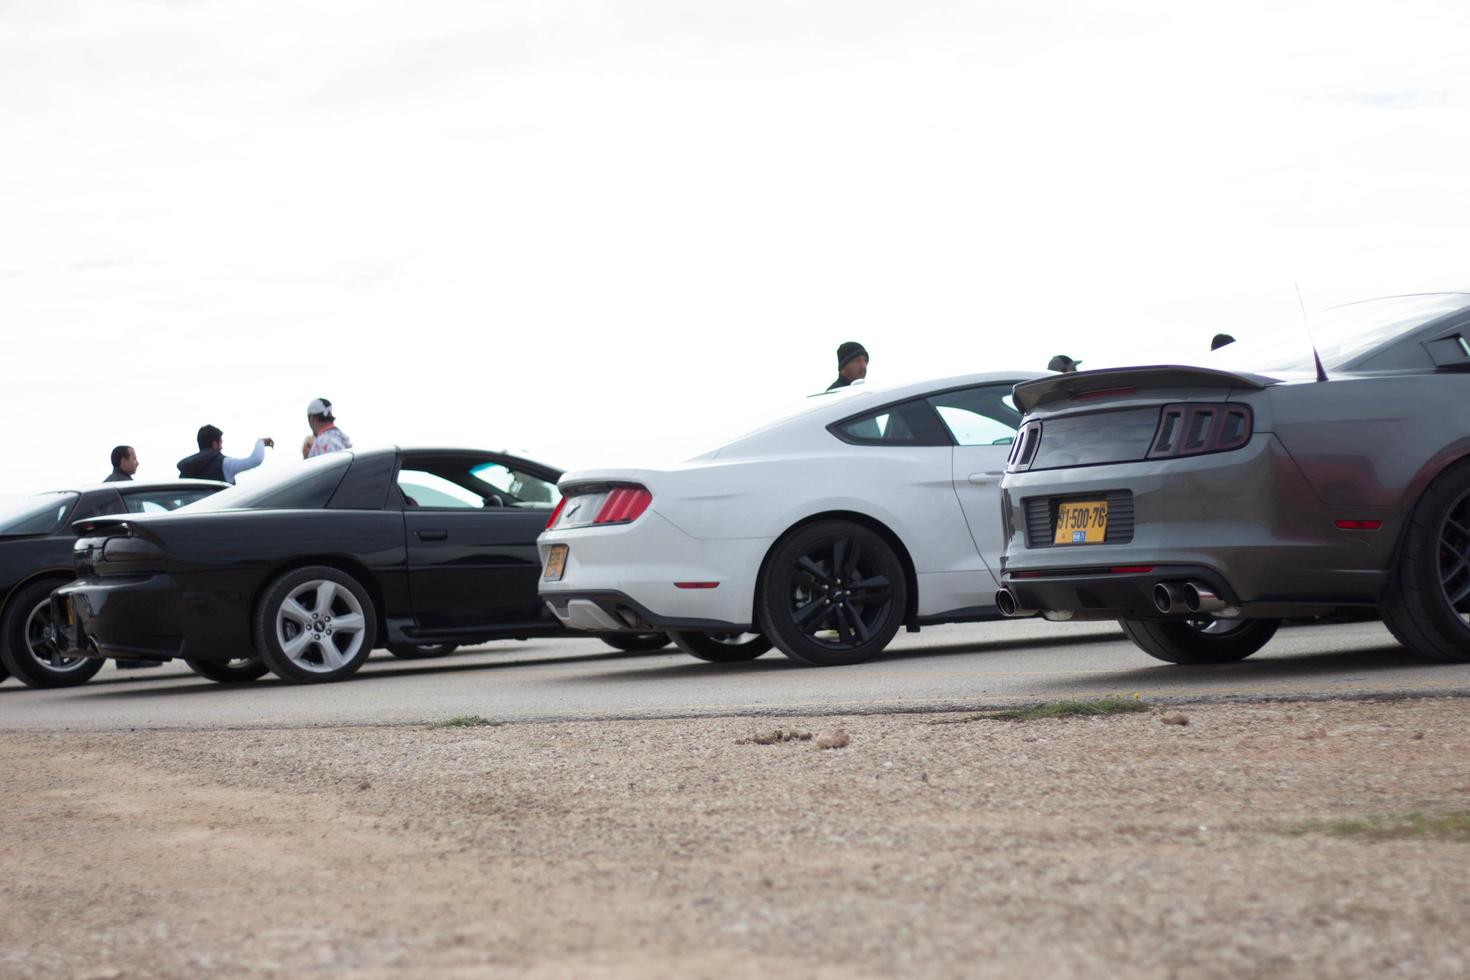
[[[1111,623],[1035,620],[900,635],[857,667],[798,667],[779,652],[707,664],[675,648],[620,654],[597,641],[491,644],[453,657],[375,654],[351,680],[222,686],[182,666],[119,671],[31,691],[0,685],[3,729],[190,729],[394,724],[481,716],[501,721],[970,710],[1138,693],[1151,699],[1470,693],[1470,664],[1410,657],[1377,623],[1288,627],[1223,667],[1152,660]]]

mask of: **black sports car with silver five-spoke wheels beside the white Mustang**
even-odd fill
[[[379,645],[432,657],[562,633],[537,597],[559,478],[473,450],[320,455],[179,514],[78,523],[56,613],[74,651],[182,658],[222,682],[340,680]]]

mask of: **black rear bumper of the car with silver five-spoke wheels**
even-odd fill
[[[231,660],[251,651],[243,604],[188,592],[169,574],[78,579],[51,604],[74,655]]]

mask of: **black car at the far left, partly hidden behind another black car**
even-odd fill
[[[51,591],[75,574],[69,522],[178,510],[226,486],[118,482],[26,497],[0,510],[0,680],[15,674],[32,688],[65,688],[101,670],[103,661],[66,655],[51,639]]]

